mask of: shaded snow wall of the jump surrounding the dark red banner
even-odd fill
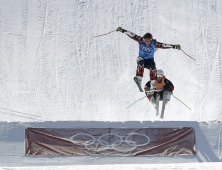
[[[46,122],[0,122],[0,166],[75,166],[75,165],[157,165],[218,162],[222,166],[221,122],[195,121],[127,121],[127,122],[83,122],[83,121],[46,121]],[[192,127],[196,136],[196,155],[191,156],[28,156],[25,154],[25,134],[27,127],[40,128],[178,128]],[[152,139],[151,139],[152,140]],[[179,166],[180,167],[180,166]],[[189,167],[189,165],[188,165]]]

